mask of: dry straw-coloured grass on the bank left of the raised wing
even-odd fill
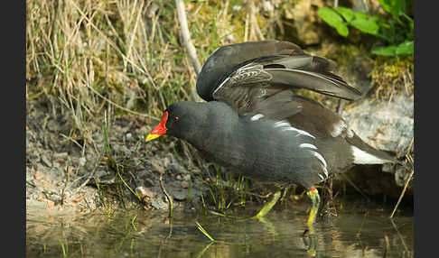
[[[254,4],[243,8],[253,12],[231,14],[229,1],[186,4],[201,61],[243,40],[232,23],[250,24],[247,40],[263,39],[258,23],[248,22],[257,20]],[[193,98],[196,74],[180,43],[174,1],[28,0],[26,18],[26,98],[60,103],[71,134],[91,141],[89,123],[108,106],[154,119],[170,103]]]

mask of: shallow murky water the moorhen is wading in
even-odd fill
[[[240,208],[242,210],[243,208]],[[252,212],[246,207],[246,212]],[[305,208],[278,208],[265,221],[175,211],[42,216],[27,211],[28,257],[310,257]],[[253,213],[254,214],[254,213]],[[315,226],[316,257],[413,257],[413,215],[343,208]],[[239,214],[249,217],[250,214]],[[198,222],[217,242],[201,233]],[[63,247],[62,247],[63,246]]]

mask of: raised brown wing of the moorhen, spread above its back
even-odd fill
[[[246,42],[215,51],[201,69],[197,91],[220,100],[239,115],[260,113],[285,118],[300,112],[292,88],[307,88],[332,97],[356,99],[360,91],[332,74],[335,62],[304,53],[282,41]]]

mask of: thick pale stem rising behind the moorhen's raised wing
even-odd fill
[[[182,0],[175,0],[175,5],[177,5],[178,21],[180,22],[180,29],[182,31],[182,39],[184,42],[184,47],[188,51],[189,57],[191,58],[193,69],[198,74],[201,70],[200,61],[197,58],[197,52],[191,41],[191,33],[188,29],[188,21],[186,19],[186,12],[184,11],[184,4]]]

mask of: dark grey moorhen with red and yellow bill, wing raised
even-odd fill
[[[297,94],[302,88],[350,101],[362,97],[333,72],[336,67],[289,41],[221,46],[198,74],[204,101],[167,106],[145,141],[172,135],[250,179],[302,186],[312,201],[307,224],[313,226],[318,183],[357,164],[397,162],[363,142],[341,115]],[[280,196],[277,191],[255,217],[265,217]]]

